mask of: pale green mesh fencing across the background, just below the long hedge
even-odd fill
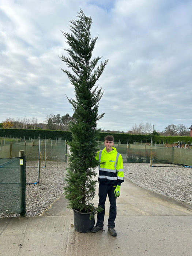
[[[18,157],[18,151],[24,150],[27,161],[38,160],[39,140],[17,140],[12,143],[3,140],[4,142],[5,144],[0,145],[0,158]],[[105,146],[102,142],[98,147],[102,150]],[[192,166],[191,148],[165,147],[163,144],[152,144],[151,147],[149,143],[114,144],[114,147],[122,155],[123,162],[150,163],[152,148],[152,163],[179,163]],[[40,152],[42,161],[66,161],[67,150],[64,140],[40,140]]]

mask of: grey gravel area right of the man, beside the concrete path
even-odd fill
[[[164,163],[152,167],[149,163],[124,163],[124,177],[139,187],[192,205],[192,168]]]

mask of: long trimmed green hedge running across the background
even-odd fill
[[[61,138],[61,140],[72,140],[71,132],[69,131],[52,131],[52,130],[31,130],[31,129],[4,129],[0,128],[0,137],[14,137],[14,138],[22,138],[29,139],[29,138],[35,138],[38,139],[40,134],[40,138],[44,139],[54,139],[54,138]],[[188,144],[192,143],[192,137],[182,137],[182,136],[152,136],[152,135],[135,135],[135,134],[125,134],[125,133],[104,133],[101,132],[98,140],[104,141],[105,136],[107,135],[113,135],[114,142],[118,143],[121,142],[121,144],[127,144],[127,141],[129,140],[129,143],[133,142],[144,142],[144,143],[151,143],[151,138],[153,143],[161,143],[163,144],[172,144],[174,142],[185,142]]]

